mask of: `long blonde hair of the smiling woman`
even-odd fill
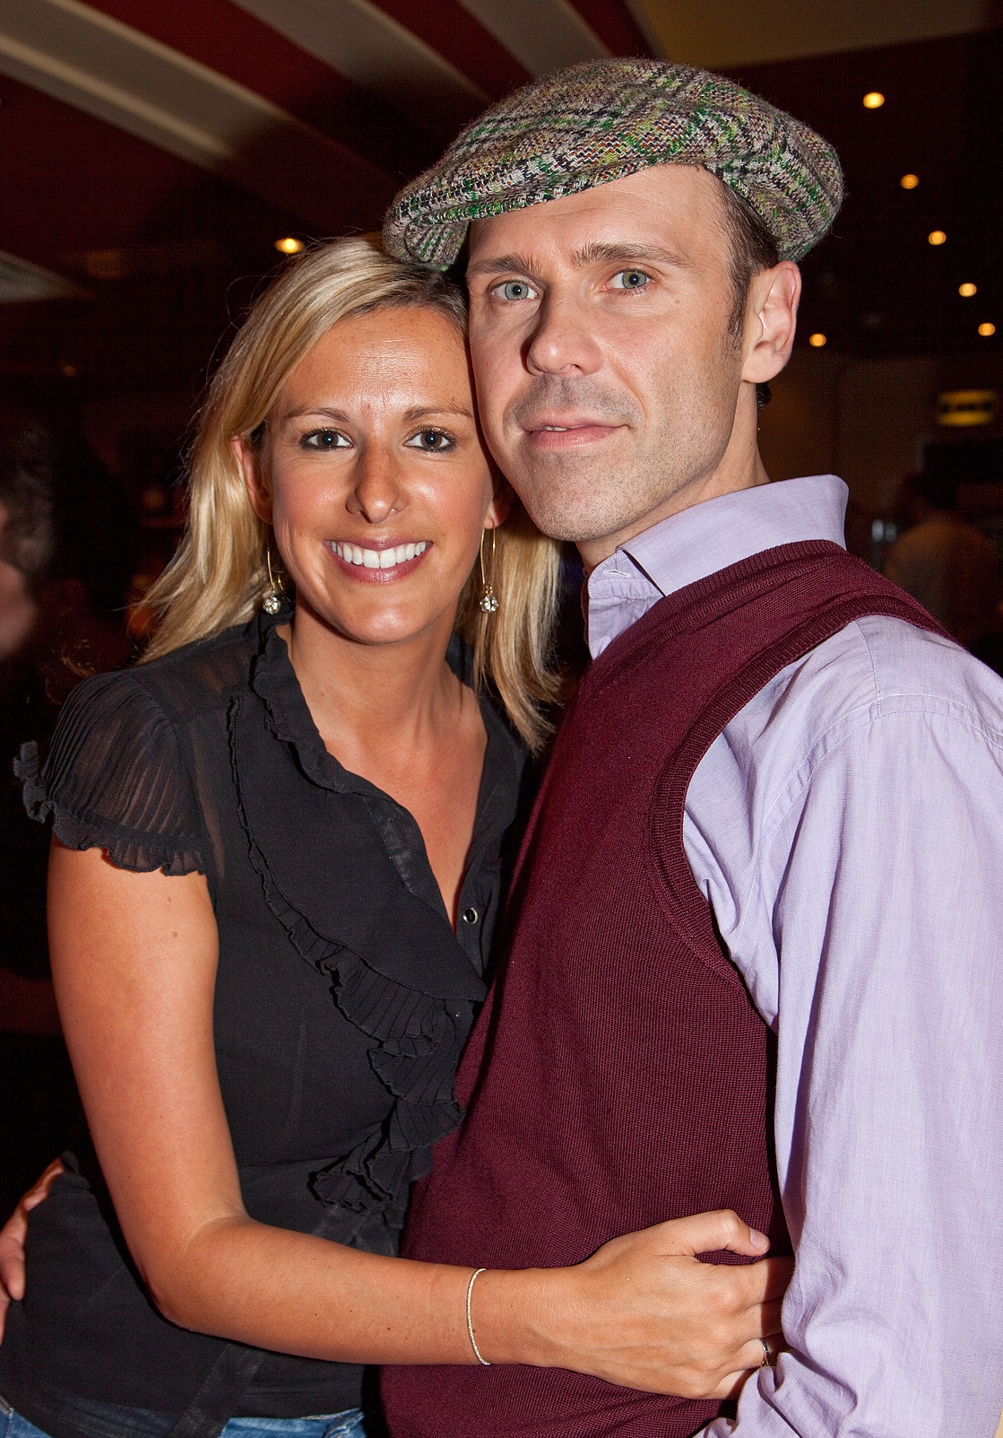
[[[376,309],[425,308],[466,335],[466,301],[451,280],[381,255],[365,240],[333,240],[292,260],[253,306],[216,371],[188,463],[188,523],[145,603],[158,627],[144,663],[244,624],[267,588],[270,528],[254,513],[233,439],[262,443],[263,426],[293,370],[341,319]],[[559,697],[550,670],[560,549],[517,499],[484,545],[499,610],[479,607],[480,572],[468,578],[457,631],[474,653],[474,683],[489,683],[536,751],[549,732],[540,705]]]

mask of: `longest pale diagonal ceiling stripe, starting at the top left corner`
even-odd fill
[[[375,165],[262,95],[79,0],[3,0],[0,70],[318,224]]]

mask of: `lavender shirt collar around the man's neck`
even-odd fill
[[[628,539],[589,575],[592,659],[664,595],[708,574],[782,544],[831,539],[843,545],[846,498],[835,475],[785,479],[706,499]]]

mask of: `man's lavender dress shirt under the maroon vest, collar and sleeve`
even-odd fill
[[[601,564],[593,656],[762,549],[842,544],[832,475],[706,500]],[[901,620],[785,669],[697,768],[684,843],[777,1034],[790,1352],[706,1438],[992,1438],[1003,1405],[1003,680]]]

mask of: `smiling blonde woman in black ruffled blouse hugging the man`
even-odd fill
[[[529,748],[555,696],[558,555],[493,477],[463,318],[361,242],[286,270],[213,383],[147,663],[26,764],[95,1152],[32,1215],[10,1434],[359,1434],[361,1365],[477,1347],[726,1392],[779,1327],[769,1265],[684,1257],[760,1255],[733,1217],[476,1288],[392,1257],[460,1117],[517,807],[477,686]]]

